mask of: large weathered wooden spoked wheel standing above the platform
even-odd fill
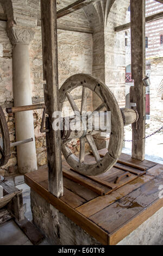
[[[110,89],[101,81],[87,74],[73,75],[61,86],[59,90],[60,111],[62,111],[62,106],[66,97],[70,102],[73,111],[79,111],[76,103],[74,102],[73,96],[71,95],[71,91],[79,86],[83,87],[82,104],[80,109],[81,115],[83,113],[84,106],[86,105],[86,88],[95,92],[103,102],[97,109],[95,109],[95,111],[100,111],[104,107],[106,108],[106,111],[111,111],[111,133],[108,153],[101,159],[91,134],[87,134],[85,137],[80,138],[79,158],[72,154],[71,150],[66,146],[65,141],[62,141],[62,153],[64,154],[67,163],[70,164],[74,170],[77,170],[79,173],[84,175],[94,176],[111,169],[117,162],[122,150],[124,125],[120,108]],[[96,163],[88,164],[84,162],[85,139],[92,149]]]

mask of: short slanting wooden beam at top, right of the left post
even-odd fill
[[[95,1],[96,0],[78,0],[78,1],[68,5],[67,7],[57,11],[57,19],[65,16],[67,14],[73,13],[74,11],[77,11],[79,9],[82,9],[86,5],[89,5]]]

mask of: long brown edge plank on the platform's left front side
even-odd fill
[[[25,182],[30,186],[37,194],[44,198],[49,204],[52,204],[62,214],[70,218],[74,223],[83,228],[87,233],[95,237],[103,245],[108,245],[108,233],[102,230],[98,225],[84,217],[82,214],[77,214],[71,206],[67,205],[60,198],[55,197],[52,193],[49,193],[44,187],[38,184],[35,180],[30,178],[30,174],[24,175]]]

